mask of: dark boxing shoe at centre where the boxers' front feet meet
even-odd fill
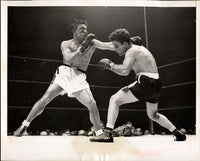
[[[104,131],[101,135],[95,136],[90,139],[91,142],[105,142],[105,143],[113,143],[112,133],[108,131]]]

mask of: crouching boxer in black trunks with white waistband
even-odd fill
[[[115,30],[109,39],[117,54],[124,56],[124,60],[122,64],[114,64],[111,60],[102,59],[99,62],[100,67],[122,76],[127,76],[133,70],[136,77],[132,84],[120,89],[110,98],[106,130],[104,134],[91,138],[90,141],[113,142],[111,132],[119,114],[119,107],[136,101],[145,101],[149,118],[173,133],[176,141],[184,141],[186,136],[165,116],[157,112],[161,82],[153,55],[144,46],[133,44],[126,29]]]

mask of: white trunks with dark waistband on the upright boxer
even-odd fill
[[[69,97],[75,97],[74,92],[90,88],[85,73],[66,65],[58,67],[52,83],[63,88],[60,95],[68,94]]]

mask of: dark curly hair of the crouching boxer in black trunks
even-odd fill
[[[110,41],[118,41],[121,44],[124,42],[130,43],[130,39],[130,33],[126,29],[116,29],[109,36]]]

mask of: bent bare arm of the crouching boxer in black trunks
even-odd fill
[[[122,64],[115,64],[112,71],[118,75],[127,76],[132,70],[135,58],[133,52],[127,52]]]

